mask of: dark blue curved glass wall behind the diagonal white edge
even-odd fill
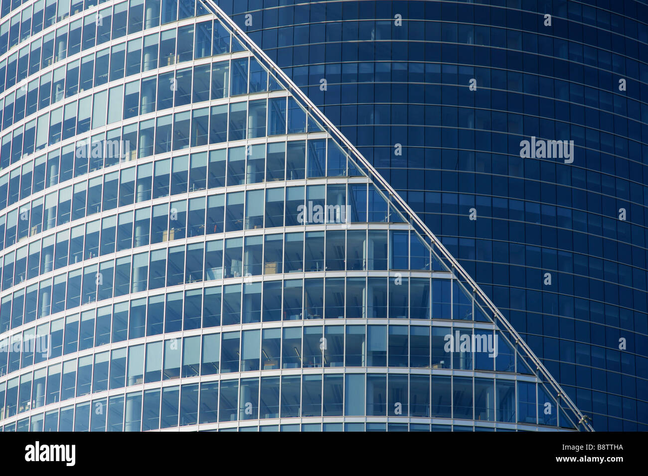
[[[594,429],[648,428],[645,1],[216,3],[406,199]],[[573,140],[573,162],[520,157],[532,138]]]

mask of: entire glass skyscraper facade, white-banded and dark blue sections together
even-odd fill
[[[2,1],[3,429],[642,429],[645,5],[595,101],[569,4]]]

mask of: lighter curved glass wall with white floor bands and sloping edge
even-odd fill
[[[69,32],[0,95],[4,431],[589,429],[226,18],[55,2],[15,43],[42,3],[1,4],[0,63]],[[81,52],[87,18],[106,33]],[[16,115],[21,90],[38,106]]]

